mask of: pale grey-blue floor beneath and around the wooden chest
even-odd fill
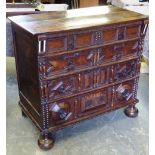
[[[18,106],[14,59],[7,59],[7,155],[148,155],[148,74],[141,74],[139,115],[128,118],[123,109],[83,121],[54,133],[50,151],[37,146],[38,130],[23,118]]]

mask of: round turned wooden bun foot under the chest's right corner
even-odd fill
[[[128,117],[137,117],[138,109],[134,105],[131,105],[124,110],[124,113]]]

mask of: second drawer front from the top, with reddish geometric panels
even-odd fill
[[[138,45],[139,41],[134,40],[101,48],[45,57],[42,60],[46,66],[46,77],[137,56],[140,53]]]

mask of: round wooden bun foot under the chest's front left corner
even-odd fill
[[[40,135],[39,139],[38,139],[38,146],[42,149],[42,150],[50,150],[54,145],[54,140],[48,136],[48,134],[46,135]]]

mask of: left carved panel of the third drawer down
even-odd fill
[[[76,75],[48,81],[49,100],[58,99],[78,91],[78,78]]]

